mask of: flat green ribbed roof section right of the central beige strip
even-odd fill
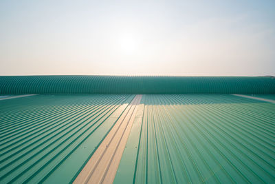
[[[143,95],[114,183],[275,183],[275,104]]]

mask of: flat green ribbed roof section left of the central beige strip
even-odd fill
[[[0,183],[69,183],[133,99],[36,95],[0,101]]]

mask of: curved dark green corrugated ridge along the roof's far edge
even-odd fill
[[[252,76],[0,76],[0,94],[274,94],[275,78]]]

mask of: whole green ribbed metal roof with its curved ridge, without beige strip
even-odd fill
[[[275,183],[274,80],[0,76],[0,183],[72,183],[135,93],[114,183]]]

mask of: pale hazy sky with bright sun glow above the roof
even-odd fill
[[[275,75],[275,1],[0,1],[0,75]]]

